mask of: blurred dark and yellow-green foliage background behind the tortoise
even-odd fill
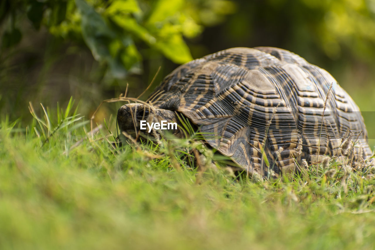
[[[0,25],[1,119],[28,124],[30,101],[52,108],[70,96],[90,118],[127,84],[138,96],[159,66],[154,86],[206,54],[273,46],[329,71],[375,139],[375,0],[2,0]]]

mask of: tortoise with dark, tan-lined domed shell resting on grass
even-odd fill
[[[117,122],[121,131],[146,136],[140,120],[178,122],[177,114],[211,147],[262,176],[262,157],[276,173],[288,173],[297,159],[317,163],[323,155],[347,155],[360,167],[372,155],[348,93],[324,69],[280,48],[229,48],[192,60],[167,75],[145,103],[121,106]],[[170,132],[182,136],[179,129]]]

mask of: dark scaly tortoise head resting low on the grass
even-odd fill
[[[175,111],[147,104],[129,103],[121,106],[117,111],[117,123],[121,133],[124,131],[132,137],[159,138],[165,131],[175,137],[182,137]]]

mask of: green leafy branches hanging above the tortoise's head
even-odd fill
[[[1,23],[9,23],[2,48],[21,41],[15,20],[26,12],[37,30],[43,25],[55,36],[83,39],[93,57],[109,65],[116,78],[124,78],[127,71],[141,72],[139,43],[175,63],[192,60],[183,36],[193,38],[203,25],[216,24],[234,11],[227,0],[7,0],[0,8]]]

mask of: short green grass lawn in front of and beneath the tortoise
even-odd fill
[[[0,249],[375,245],[374,177],[331,160],[293,180],[236,181],[208,166],[216,156],[197,135],[117,147],[111,124],[91,135],[72,107],[38,116],[31,106],[26,129],[1,121]],[[193,148],[204,172],[189,167]]]

